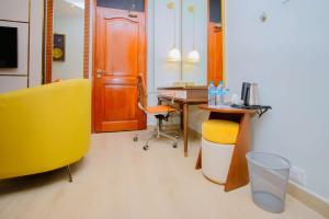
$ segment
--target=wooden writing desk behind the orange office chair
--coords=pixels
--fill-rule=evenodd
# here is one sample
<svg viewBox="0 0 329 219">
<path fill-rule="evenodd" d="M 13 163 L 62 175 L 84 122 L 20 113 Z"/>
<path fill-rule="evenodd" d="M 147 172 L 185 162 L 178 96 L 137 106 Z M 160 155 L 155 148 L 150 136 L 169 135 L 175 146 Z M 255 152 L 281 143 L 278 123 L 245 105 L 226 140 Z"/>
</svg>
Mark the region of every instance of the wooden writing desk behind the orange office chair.
<svg viewBox="0 0 329 219">
<path fill-rule="evenodd" d="M 158 89 L 158 104 L 162 101 L 172 101 L 180 105 L 181 128 L 184 135 L 184 157 L 189 154 L 189 106 L 208 102 L 207 87 L 170 87 Z"/>
</svg>

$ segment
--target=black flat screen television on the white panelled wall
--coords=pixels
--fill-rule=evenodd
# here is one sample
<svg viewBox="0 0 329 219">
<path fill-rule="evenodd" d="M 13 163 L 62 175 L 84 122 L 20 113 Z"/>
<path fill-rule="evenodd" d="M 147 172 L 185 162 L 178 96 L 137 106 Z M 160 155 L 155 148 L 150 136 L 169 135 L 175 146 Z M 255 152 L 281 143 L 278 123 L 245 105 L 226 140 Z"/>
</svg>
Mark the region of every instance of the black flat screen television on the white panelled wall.
<svg viewBox="0 0 329 219">
<path fill-rule="evenodd" d="M 18 27 L 0 26 L 0 68 L 18 68 Z"/>
</svg>

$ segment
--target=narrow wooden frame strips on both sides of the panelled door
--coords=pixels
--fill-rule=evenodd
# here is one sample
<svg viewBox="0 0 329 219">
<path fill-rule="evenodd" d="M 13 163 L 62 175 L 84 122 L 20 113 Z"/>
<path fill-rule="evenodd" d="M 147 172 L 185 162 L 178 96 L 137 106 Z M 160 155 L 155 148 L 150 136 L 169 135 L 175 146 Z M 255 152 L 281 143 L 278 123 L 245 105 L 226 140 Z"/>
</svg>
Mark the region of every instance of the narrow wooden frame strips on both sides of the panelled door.
<svg viewBox="0 0 329 219">
<path fill-rule="evenodd" d="M 92 10 L 92 72 L 91 72 L 91 80 L 92 80 L 92 107 L 91 107 L 91 131 L 95 132 L 95 85 L 94 85 L 94 79 L 97 74 L 97 68 L 95 68 L 95 47 L 97 47 L 97 0 L 88 0 L 91 1 L 91 10 Z M 144 0 L 144 13 L 145 13 L 145 80 L 147 81 L 147 49 L 148 49 L 148 0 Z M 146 83 L 147 87 L 147 83 Z M 147 119 L 145 119 L 145 123 L 147 123 Z"/>
</svg>

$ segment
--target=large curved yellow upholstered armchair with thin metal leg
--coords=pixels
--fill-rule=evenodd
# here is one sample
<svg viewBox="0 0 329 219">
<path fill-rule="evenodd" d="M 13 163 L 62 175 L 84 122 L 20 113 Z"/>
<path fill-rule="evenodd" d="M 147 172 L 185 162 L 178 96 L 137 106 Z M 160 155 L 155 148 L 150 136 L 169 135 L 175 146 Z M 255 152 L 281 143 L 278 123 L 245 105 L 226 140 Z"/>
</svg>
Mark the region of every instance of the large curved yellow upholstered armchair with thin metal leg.
<svg viewBox="0 0 329 219">
<path fill-rule="evenodd" d="M 0 180 L 69 166 L 87 153 L 90 135 L 89 80 L 0 94 Z"/>
</svg>

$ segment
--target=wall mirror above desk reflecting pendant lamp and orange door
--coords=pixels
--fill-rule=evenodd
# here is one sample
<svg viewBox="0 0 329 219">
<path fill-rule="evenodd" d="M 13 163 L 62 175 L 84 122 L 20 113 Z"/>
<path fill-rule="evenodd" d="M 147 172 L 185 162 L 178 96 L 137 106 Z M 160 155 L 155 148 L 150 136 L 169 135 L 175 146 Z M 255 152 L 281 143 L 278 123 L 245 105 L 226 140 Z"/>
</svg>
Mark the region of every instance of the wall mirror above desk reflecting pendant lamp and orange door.
<svg viewBox="0 0 329 219">
<path fill-rule="evenodd" d="M 182 79 L 207 84 L 223 81 L 222 0 L 182 1 Z"/>
</svg>

